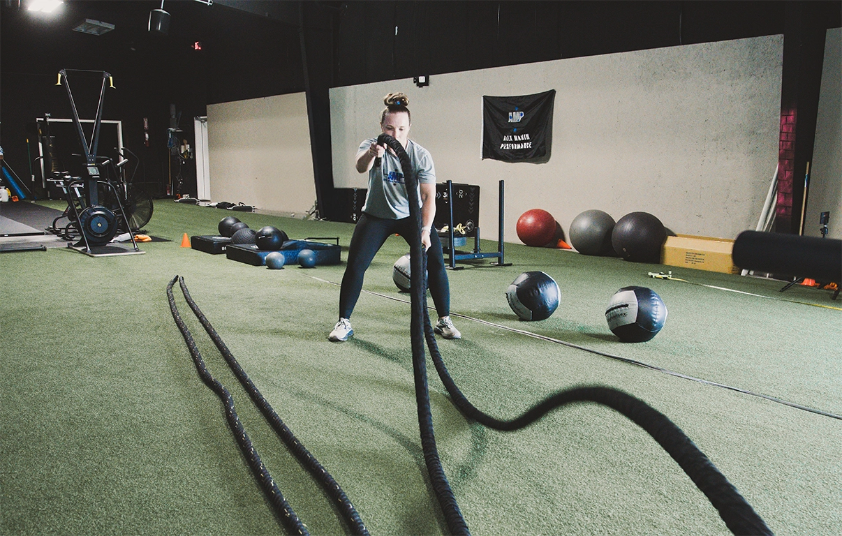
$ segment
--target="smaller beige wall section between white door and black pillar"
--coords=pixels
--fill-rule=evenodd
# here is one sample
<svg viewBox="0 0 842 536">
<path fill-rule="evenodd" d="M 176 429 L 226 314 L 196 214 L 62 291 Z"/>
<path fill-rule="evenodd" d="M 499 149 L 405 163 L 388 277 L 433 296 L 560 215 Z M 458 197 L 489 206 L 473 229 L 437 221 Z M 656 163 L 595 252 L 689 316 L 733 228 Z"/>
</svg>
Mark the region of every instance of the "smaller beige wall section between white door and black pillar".
<svg viewBox="0 0 842 536">
<path fill-rule="evenodd" d="M 304 93 L 209 104 L 210 198 L 303 213 L 316 201 Z"/>
</svg>

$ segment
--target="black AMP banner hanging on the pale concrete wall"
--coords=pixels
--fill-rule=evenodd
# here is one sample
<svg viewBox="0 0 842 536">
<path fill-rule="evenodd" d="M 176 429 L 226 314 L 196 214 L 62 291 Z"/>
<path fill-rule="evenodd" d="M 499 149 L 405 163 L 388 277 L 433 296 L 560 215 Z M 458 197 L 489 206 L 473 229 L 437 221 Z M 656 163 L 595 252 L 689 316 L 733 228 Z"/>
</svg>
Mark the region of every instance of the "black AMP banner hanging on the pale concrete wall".
<svg viewBox="0 0 842 536">
<path fill-rule="evenodd" d="M 482 157 L 507 162 L 544 159 L 556 90 L 520 97 L 482 97 Z"/>
</svg>

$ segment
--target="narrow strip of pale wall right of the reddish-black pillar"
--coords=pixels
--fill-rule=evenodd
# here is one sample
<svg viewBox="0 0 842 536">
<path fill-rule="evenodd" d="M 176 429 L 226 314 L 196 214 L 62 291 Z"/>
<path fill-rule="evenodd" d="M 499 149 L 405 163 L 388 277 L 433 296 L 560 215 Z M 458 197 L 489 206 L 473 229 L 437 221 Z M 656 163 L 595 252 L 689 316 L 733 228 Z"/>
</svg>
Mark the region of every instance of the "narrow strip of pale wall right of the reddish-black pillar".
<svg viewBox="0 0 842 536">
<path fill-rule="evenodd" d="M 818 98 L 816 145 L 810 166 L 804 234 L 822 236 L 818 215 L 830 211 L 828 236 L 842 238 L 842 29 L 824 41 L 822 89 Z"/>
</svg>

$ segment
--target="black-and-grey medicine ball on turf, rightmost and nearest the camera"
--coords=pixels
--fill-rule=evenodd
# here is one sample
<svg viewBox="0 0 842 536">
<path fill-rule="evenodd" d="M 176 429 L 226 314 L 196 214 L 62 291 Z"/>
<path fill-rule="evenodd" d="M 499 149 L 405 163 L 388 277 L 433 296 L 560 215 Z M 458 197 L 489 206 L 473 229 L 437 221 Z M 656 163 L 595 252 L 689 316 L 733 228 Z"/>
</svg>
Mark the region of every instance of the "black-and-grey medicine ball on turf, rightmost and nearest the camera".
<svg viewBox="0 0 842 536">
<path fill-rule="evenodd" d="M 621 341 L 645 342 L 661 331 L 667 320 L 667 306 L 653 289 L 623 287 L 611 296 L 605 320 Z"/>
</svg>

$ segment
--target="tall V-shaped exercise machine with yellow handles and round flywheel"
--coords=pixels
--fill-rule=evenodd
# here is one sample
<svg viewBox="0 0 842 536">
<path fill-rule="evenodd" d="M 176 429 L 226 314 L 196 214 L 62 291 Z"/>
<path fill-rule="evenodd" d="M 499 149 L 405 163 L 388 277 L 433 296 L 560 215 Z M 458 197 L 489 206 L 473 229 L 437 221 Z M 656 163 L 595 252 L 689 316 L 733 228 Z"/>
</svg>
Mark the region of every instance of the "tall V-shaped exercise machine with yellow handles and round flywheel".
<svg viewBox="0 0 842 536">
<path fill-rule="evenodd" d="M 73 93 L 70 90 L 70 82 L 68 81 L 68 72 L 98 72 L 102 74 L 103 84 L 99 91 L 99 104 L 97 105 L 96 118 L 93 120 L 93 132 L 91 133 L 91 141 L 88 144 L 88 139 L 82 129 L 82 122 L 79 120 L 79 114 L 76 109 L 76 103 L 73 100 Z M 76 125 L 77 134 L 79 135 L 79 142 L 82 146 L 83 157 L 85 158 L 84 174 L 85 177 L 72 177 L 69 173 L 56 173 L 53 178 L 48 179 L 56 186 L 60 187 L 67 196 L 67 210 L 65 214 L 69 220 L 69 224 L 65 230 L 65 236 L 72 236 L 70 230 L 77 231 L 79 241 L 76 244 L 68 244 L 67 247 L 83 252 L 91 257 L 104 257 L 113 255 L 137 255 L 142 254 L 135 236 L 131 231 L 135 231 L 130 221 L 128 214 L 132 209 L 131 205 L 126 204 L 127 197 L 125 188 L 118 188 L 114 182 L 110 180 L 103 180 L 102 170 L 106 170 L 107 166 L 115 167 L 120 172 L 122 165 L 125 162 L 114 164 L 109 158 L 97 156 L 97 147 L 99 146 L 99 127 L 102 124 L 103 101 L 105 99 L 105 88 L 114 88 L 114 78 L 104 71 L 80 71 L 76 69 L 62 69 L 58 72 L 58 82 L 56 86 L 64 86 L 67 90 L 67 97 L 70 98 L 70 108 L 73 115 L 73 125 Z M 107 174 L 106 174 L 107 178 Z M 100 189 L 102 192 L 100 192 Z M 100 193 L 102 193 L 102 201 L 100 200 Z M 104 200 L 107 199 L 106 206 Z M 149 215 L 152 215 L 151 204 L 148 210 Z M 147 221 L 144 222 L 145 225 Z M 136 227 L 135 222 L 135 226 Z M 54 222 L 53 227 L 56 227 Z M 106 247 L 112 241 L 118 231 L 128 231 L 131 237 L 131 245 L 133 251 L 127 250 L 124 247 Z"/>
</svg>

